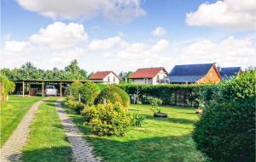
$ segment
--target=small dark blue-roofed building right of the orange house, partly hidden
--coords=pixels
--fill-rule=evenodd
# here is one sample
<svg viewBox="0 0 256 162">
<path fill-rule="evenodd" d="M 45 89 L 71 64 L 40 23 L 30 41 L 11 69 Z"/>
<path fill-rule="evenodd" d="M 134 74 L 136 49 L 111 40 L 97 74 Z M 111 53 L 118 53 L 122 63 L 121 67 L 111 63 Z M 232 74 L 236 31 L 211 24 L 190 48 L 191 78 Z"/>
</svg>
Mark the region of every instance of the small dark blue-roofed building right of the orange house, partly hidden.
<svg viewBox="0 0 256 162">
<path fill-rule="evenodd" d="M 228 68 L 219 68 L 219 74 L 222 77 L 223 81 L 230 81 L 231 77 L 236 77 L 241 74 L 241 67 L 228 67 Z"/>
</svg>

